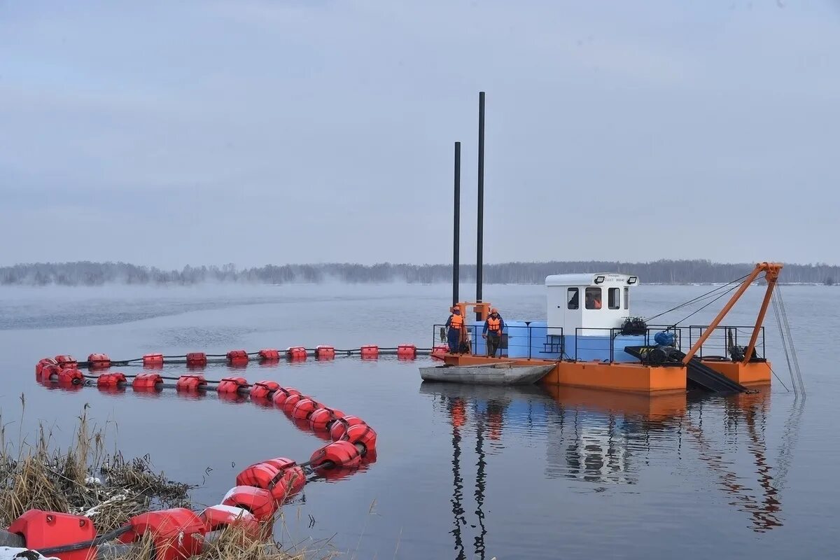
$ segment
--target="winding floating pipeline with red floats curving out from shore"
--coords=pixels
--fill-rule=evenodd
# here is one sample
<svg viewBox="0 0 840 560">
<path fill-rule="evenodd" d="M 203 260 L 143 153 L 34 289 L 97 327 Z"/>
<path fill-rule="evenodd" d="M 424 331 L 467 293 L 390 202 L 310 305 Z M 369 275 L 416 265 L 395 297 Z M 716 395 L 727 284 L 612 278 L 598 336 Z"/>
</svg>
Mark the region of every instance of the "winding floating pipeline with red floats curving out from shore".
<svg viewBox="0 0 840 560">
<path fill-rule="evenodd" d="M 277 351 L 262 350 L 260 355 L 274 356 L 274 352 Z M 154 356 L 150 362 L 155 364 L 171 358 L 149 355 Z M 242 360 L 250 355 L 244 350 L 232 351 L 225 359 Z M 113 393 L 130 386 L 135 392 L 174 389 L 198 396 L 215 392 L 222 400 L 250 399 L 261 406 L 280 408 L 296 427 L 308 429 L 328 443 L 318 447 L 305 462 L 278 457 L 244 468 L 221 503 L 201 513 L 185 508 L 150 511 L 132 517 L 116 531 L 97 536 L 96 527 L 86 516 L 29 510 L 13 521 L 8 530 L 0 529 L 0 546 L 26 547 L 61 560 L 105 560 L 129 552 L 129 547 L 148 535 L 155 545 L 155 560 L 175 560 L 201 553 L 228 526 L 238 527 L 247 536 L 267 540 L 276 511 L 306 484 L 318 479 L 343 479 L 376 460 L 376 432 L 365 421 L 325 406 L 297 389 L 282 387 L 276 381 L 249 383 L 243 377 L 211 380 L 200 374 L 179 377 L 114 371 L 83 374 L 79 367 L 102 369 L 106 362 L 109 366 L 118 364 L 105 354 L 91 354 L 91 358 L 96 359 L 77 362 L 69 355 L 42 359 L 35 367 L 36 377 L 43 385 L 58 385 L 65 390 L 95 386 L 102 392 Z"/>
</svg>

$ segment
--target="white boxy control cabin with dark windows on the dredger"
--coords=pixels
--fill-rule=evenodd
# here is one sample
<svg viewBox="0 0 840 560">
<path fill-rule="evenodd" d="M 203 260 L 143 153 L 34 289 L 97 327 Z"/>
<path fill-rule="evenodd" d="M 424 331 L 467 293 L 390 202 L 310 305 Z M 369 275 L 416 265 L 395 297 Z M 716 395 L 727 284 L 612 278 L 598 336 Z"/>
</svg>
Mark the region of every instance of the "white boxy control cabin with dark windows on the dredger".
<svg viewBox="0 0 840 560">
<path fill-rule="evenodd" d="M 630 317 L 630 288 L 635 285 L 637 276 L 615 273 L 546 276 L 549 335 L 608 335 L 601 329 L 621 327 Z"/>
</svg>

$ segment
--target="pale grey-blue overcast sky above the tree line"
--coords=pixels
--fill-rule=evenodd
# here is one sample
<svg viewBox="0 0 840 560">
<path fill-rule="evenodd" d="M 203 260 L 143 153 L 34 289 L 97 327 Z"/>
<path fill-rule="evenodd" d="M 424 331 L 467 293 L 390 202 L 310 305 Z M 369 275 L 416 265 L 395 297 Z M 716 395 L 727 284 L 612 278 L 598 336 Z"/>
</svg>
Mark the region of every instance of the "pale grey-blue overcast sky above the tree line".
<svg viewBox="0 0 840 560">
<path fill-rule="evenodd" d="M 840 263 L 837 0 L 0 0 L 0 264 Z"/>
</svg>

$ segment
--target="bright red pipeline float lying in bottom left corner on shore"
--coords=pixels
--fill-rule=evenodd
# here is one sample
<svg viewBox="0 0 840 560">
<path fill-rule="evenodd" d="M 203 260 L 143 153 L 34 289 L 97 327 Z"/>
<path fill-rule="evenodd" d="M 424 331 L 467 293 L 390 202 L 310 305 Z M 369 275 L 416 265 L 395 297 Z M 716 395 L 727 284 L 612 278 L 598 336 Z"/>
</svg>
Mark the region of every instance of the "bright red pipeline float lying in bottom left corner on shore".
<svg viewBox="0 0 840 560">
<path fill-rule="evenodd" d="M 8 532 L 23 536 L 26 547 L 33 550 L 92 541 L 97 536 L 96 527 L 87 517 L 42 510 L 27 511 L 8 526 Z M 92 547 L 60 555 L 61 560 L 87 560 L 94 556 L 96 549 Z"/>
</svg>

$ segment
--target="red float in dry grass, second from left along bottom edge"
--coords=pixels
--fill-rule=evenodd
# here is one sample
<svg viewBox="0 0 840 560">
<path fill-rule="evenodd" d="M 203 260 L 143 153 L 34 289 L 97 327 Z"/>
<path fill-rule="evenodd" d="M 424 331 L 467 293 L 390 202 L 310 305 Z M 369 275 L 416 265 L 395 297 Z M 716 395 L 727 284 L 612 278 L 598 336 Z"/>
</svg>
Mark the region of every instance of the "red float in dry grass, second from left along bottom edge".
<svg viewBox="0 0 840 560">
<path fill-rule="evenodd" d="M 185 508 L 150 511 L 132 517 L 126 524 L 131 530 L 119 537 L 130 544 L 149 533 L 155 544 L 155 560 L 183 560 L 202 552 L 207 525 Z"/>
</svg>

